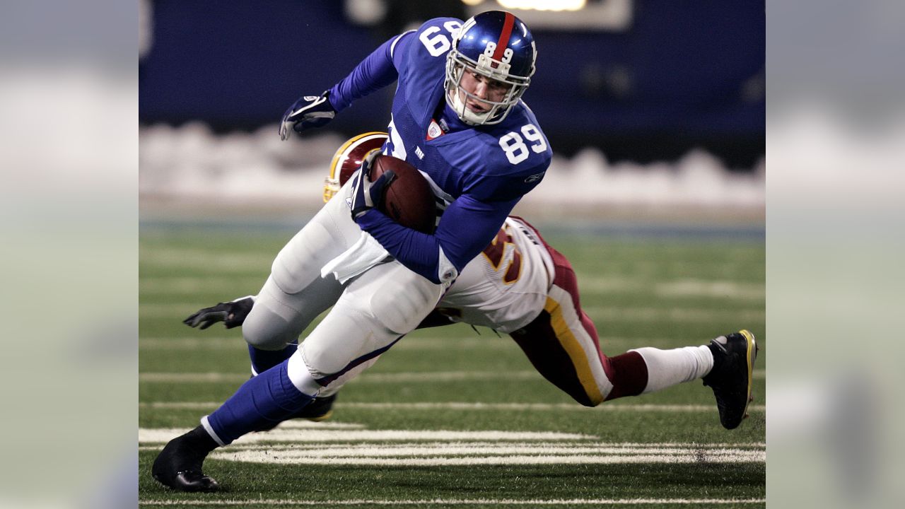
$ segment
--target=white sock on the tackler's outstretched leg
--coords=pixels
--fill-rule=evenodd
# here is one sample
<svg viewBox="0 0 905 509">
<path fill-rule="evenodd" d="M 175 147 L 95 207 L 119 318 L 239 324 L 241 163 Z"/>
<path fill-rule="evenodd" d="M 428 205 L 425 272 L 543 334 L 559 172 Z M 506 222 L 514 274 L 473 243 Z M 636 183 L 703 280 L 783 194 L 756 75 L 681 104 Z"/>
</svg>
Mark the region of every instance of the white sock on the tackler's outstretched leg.
<svg viewBox="0 0 905 509">
<path fill-rule="evenodd" d="M 632 351 L 641 354 L 647 364 L 647 387 L 642 394 L 700 379 L 713 369 L 713 354 L 706 345 L 672 350 L 644 347 Z"/>
</svg>

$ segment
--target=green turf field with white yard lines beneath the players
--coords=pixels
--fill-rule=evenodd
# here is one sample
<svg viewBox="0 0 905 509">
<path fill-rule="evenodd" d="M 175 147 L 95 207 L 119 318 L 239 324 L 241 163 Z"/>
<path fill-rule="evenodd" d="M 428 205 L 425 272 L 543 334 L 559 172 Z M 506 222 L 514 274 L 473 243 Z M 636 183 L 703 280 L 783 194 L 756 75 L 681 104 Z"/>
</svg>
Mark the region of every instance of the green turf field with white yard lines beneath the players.
<svg viewBox="0 0 905 509">
<path fill-rule="evenodd" d="M 751 418 L 720 427 L 700 381 L 584 408 L 542 379 L 508 336 L 455 325 L 399 341 L 339 393 L 329 421 L 284 423 L 214 451 L 205 473 L 224 491 L 175 493 L 150 475 L 157 451 L 249 375 L 238 329 L 198 331 L 182 319 L 257 293 L 293 232 L 145 226 L 141 506 L 764 506 L 762 240 L 542 231 L 575 266 L 608 355 L 753 331 L 761 351 Z"/>
</svg>

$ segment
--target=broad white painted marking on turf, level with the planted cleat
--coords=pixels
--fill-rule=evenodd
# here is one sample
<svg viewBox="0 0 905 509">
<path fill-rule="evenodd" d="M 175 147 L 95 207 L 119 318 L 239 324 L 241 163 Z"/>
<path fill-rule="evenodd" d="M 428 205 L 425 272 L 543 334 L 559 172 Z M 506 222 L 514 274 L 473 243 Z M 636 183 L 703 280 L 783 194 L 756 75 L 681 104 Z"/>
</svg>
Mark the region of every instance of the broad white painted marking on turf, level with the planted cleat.
<svg viewBox="0 0 905 509">
<path fill-rule="evenodd" d="M 553 431 L 341 429 L 306 424 L 238 438 L 211 457 L 283 465 L 458 466 L 636 463 L 764 463 L 766 444 L 606 443 Z M 138 428 L 141 450 L 186 432 Z M 262 443 L 270 445 L 262 445 Z"/>
</svg>

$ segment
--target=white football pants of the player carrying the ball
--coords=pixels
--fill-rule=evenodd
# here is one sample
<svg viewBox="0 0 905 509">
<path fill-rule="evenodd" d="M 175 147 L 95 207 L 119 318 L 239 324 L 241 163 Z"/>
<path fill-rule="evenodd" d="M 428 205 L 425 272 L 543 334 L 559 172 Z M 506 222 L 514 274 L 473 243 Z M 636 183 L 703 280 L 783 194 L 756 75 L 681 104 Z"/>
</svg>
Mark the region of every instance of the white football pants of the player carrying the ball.
<svg viewBox="0 0 905 509">
<path fill-rule="evenodd" d="M 349 214 L 346 186 L 277 255 L 271 275 L 243 323 L 245 341 L 282 350 L 321 312 L 333 306 L 300 343 L 289 362 L 292 383 L 310 396 L 326 396 L 367 369 L 440 300 L 443 288 L 393 260 L 342 285 L 320 268 L 361 235 Z"/>
</svg>

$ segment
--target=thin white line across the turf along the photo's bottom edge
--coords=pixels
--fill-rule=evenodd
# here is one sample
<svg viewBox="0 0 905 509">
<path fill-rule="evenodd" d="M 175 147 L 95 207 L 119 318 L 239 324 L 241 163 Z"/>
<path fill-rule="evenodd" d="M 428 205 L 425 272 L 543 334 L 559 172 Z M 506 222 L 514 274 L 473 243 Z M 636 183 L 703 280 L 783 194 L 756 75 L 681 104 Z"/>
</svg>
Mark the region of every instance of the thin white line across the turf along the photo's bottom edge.
<svg viewBox="0 0 905 509">
<path fill-rule="evenodd" d="M 509 498 L 421 500 L 300 500 L 290 498 L 256 498 L 248 500 L 139 500 L 139 505 L 707 505 L 707 504 L 765 504 L 766 498 L 562 498 L 552 500 L 514 500 Z"/>
</svg>

